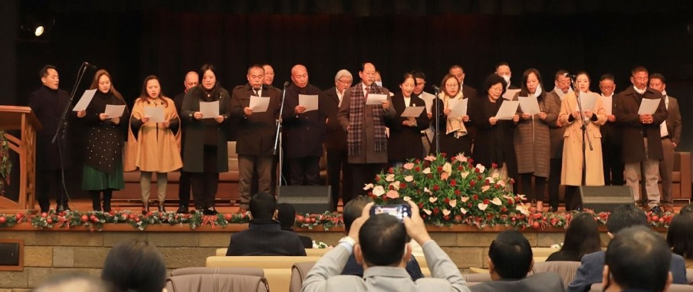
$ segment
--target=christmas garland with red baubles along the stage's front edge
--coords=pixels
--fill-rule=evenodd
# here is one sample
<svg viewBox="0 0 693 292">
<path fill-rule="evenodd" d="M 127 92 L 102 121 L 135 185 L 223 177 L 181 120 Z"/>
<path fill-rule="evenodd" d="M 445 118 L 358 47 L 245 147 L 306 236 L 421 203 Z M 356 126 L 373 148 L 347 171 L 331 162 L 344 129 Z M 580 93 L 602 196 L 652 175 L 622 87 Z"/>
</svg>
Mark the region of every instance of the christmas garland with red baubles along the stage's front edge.
<svg viewBox="0 0 693 292">
<path fill-rule="evenodd" d="M 606 226 L 608 220 L 608 212 L 594 213 L 587 210 L 595 217 L 595 221 L 599 226 Z M 572 220 L 575 212 L 547 212 L 535 213 L 529 216 L 522 214 L 517 215 L 492 215 L 491 217 L 466 217 L 464 220 L 447 223 L 443 226 L 467 225 L 477 228 L 484 226 L 505 226 L 520 230 L 534 229 L 543 230 L 546 228 L 567 228 Z M 668 228 L 674 218 L 674 213 L 666 212 L 662 215 L 656 213 L 648 213 L 647 221 L 651 227 Z M 146 230 L 152 225 L 187 225 L 191 230 L 199 226 L 209 225 L 212 228 L 217 226 L 220 228 L 226 227 L 228 224 L 248 223 L 250 221 L 249 213 L 224 213 L 218 215 L 201 215 L 195 214 L 176 214 L 175 212 L 150 212 L 142 215 L 139 212 L 131 212 L 129 210 L 119 212 L 100 212 L 100 211 L 64 211 L 55 212 L 51 210 L 41 214 L 0 214 L 0 228 L 9 228 L 19 223 L 30 223 L 31 226 L 37 229 L 44 228 L 64 228 L 78 229 L 86 228 L 90 231 L 103 230 L 104 224 L 129 224 L 135 230 Z M 486 222 L 484 224 L 480 222 Z M 322 226 L 324 230 L 329 230 L 335 226 L 344 226 L 342 215 L 335 212 L 325 212 L 323 214 L 299 214 L 296 216 L 296 228 L 313 229 Z"/>
</svg>

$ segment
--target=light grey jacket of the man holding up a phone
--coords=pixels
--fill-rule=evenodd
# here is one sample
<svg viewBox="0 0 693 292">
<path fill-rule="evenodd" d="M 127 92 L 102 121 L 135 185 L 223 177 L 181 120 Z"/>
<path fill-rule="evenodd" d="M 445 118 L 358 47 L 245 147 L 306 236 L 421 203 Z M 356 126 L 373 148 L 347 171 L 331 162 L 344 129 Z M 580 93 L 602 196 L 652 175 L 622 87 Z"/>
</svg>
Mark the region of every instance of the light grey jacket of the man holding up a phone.
<svg viewBox="0 0 693 292">
<path fill-rule="evenodd" d="M 431 271 L 430 278 L 414 282 L 404 268 L 393 266 L 367 268 L 363 278 L 340 275 L 350 255 L 349 250 L 340 245 L 315 263 L 306 275 L 301 291 L 469 291 L 457 266 L 435 241 L 424 243 L 422 248 Z"/>
</svg>

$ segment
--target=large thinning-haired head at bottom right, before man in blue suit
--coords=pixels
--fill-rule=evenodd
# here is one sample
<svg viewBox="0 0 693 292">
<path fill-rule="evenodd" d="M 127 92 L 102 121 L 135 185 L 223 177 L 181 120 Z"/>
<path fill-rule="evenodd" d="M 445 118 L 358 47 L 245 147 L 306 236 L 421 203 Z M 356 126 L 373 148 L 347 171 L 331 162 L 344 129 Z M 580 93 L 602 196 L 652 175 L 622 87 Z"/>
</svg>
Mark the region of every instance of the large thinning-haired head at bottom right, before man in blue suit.
<svg viewBox="0 0 693 292">
<path fill-rule="evenodd" d="M 667 291 L 670 254 L 664 239 L 645 226 L 621 230 L 604 255 L 604 291 Z"/>
</svg>

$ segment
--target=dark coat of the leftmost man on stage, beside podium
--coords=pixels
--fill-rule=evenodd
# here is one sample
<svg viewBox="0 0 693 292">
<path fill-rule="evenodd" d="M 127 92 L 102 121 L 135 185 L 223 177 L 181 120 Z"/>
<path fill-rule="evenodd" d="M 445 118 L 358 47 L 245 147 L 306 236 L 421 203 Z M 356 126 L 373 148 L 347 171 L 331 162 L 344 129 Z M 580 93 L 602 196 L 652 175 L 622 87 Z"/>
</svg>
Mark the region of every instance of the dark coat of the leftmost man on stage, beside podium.
<svg viewBox="0 0 693 292">
<path fill-rule="evenodd" d="M 53 140 L 55 131 L 58 130 L 58 125 L 60 125 L 62 110 L 67 106 L 69 99 L 70 97 L 67 91 L 61 89 L 53 90 L 46 86 L 41 86 L 40 89 L 37 89 L 29 95 L 28 106 L 43 126 L 36 131 L 36 167 L 38 170 L 61 169 L 60 152 L 58 151 L 57 143 L 60 143 L 60 138 L 64 137 L 58 136 L 58 140 L 55 144 L 51 143 L 51 141 Z M 66 128 L 62 129 L 62 131 L 65 130 Z M 65 168 L 68 168 L 67 163 L 71 161 L 69 156 L 65 153 L 67 150 L 69 150 L 68 147 L 62 148 L 64 157 L 63 162 L 66 163 Z"/>
</svg>

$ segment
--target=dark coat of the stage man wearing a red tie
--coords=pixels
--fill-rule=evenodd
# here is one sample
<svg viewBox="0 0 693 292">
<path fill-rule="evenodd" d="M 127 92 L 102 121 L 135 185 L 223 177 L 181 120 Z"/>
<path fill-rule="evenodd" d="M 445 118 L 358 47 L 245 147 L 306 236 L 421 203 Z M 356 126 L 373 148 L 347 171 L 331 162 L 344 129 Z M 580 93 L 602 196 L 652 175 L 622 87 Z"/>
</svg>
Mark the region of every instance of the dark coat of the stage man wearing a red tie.
<svg viewBox="0 0 693 292">
<path fill-rule="evenodd" d="M 250 106 L 250 95 L 254 94 L 249 84 L 236 86 L 231 93 L 231 116 L 238 120 L 236 153 L 255 156 L 273 155 L 281 91 L 263 86 L 261 98 L 270 98 L 267 111 L 245 117 L 243 109 Z"/>
</svg>

